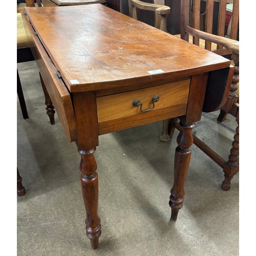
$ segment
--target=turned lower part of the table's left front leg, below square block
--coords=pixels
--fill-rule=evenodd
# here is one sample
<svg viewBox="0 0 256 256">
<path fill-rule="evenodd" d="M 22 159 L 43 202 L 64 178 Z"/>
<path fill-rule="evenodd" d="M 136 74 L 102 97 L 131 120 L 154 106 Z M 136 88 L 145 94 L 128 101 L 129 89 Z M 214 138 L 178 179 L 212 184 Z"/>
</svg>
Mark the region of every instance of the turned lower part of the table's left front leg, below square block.
<svg viewBox="0 0 256 256">
<path fill-rule="evenodd" d="M 96 148 L 89 151 L 79 151 L 81 154 L 80 172 L 84 206 L 86 207 L 86 234 L 90 238 L 93 249 L 99 246 L 101 234 L 100 218 L 98 216 L 98 174 L 94 158 Z"/>
</svg>

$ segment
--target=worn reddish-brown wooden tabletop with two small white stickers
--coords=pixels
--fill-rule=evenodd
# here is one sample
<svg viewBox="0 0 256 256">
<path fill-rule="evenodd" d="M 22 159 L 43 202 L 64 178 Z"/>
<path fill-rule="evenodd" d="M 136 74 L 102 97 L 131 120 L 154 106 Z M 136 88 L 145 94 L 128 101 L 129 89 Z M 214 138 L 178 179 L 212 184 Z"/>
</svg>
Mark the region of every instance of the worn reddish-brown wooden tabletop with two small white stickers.
<svg viewBox="0 0 256 256">
<path fill-rule="evenodd" d="M 25 10 L 71 92 L 129 87 L 230 65 L 101 4 Z"/>
</svg>

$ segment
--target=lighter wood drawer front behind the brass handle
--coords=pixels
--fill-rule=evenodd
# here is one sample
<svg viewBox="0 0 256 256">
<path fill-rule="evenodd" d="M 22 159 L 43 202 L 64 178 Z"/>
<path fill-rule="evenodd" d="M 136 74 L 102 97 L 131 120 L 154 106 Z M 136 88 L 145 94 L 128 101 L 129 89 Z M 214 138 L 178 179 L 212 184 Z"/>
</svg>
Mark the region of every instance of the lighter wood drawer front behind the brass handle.
<svg viewBox="0 0 256 256">
<path fill-rule="evenodd" d="M 142 111 L 152 109 L 152 98 L 159 96 L 152 112 L 170 106 L 186 103 L 188 100 L 190 79 L 173 83 L 162 84 L 151 88 L 131 92 L 102 96 L 97 98 L 98 122 L 106 122 L 133 115 L 144 114 L 140 105 L 133 106 L 133 101 L 139 99 Z"/>
</svg>

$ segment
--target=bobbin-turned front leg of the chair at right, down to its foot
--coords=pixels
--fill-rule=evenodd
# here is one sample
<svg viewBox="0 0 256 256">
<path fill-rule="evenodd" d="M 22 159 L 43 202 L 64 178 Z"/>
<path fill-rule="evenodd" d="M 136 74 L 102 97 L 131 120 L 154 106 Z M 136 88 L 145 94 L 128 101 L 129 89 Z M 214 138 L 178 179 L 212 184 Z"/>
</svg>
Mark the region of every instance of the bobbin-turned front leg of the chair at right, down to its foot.
<svg viewBox="0 0 256 256">
<path fill-rule="evenodd" d="M 236 129 L 236 134 L 234 135 L 234 141 L 232 142 L 230 155 L 228 156 L 229 160 L 223 168 L 225 179 L 221 184 L 221 188 L 226 191 L 230 189 L 231 179 L 239 170 L 239 113 L 237 114 L 237 122 L 238 126 Z"/>
</svg>

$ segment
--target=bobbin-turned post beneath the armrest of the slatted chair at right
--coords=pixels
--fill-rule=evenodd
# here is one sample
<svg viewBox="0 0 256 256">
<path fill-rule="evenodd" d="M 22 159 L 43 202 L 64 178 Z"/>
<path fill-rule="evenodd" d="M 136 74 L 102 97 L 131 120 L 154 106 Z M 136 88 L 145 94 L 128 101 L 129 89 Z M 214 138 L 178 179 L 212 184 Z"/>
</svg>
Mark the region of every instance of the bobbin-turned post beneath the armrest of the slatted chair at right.
<svg viewBox="0 0 256 256">
<path fill-rule="evenodd" d="M 232 78 L 232 83 L 228 95 L 228 99 L 221 108 L 220 114 L 217 118 L 219 122 L 223 122 L 227 118 L 227 114 L 231 113 L 232 106 L 237 102 L 237 90 L 238 90 L 238 82 L 239 82 L 239 55 L 232 54 L 232 59 L 234 61 L 234 74 Z"/>
</svg>

